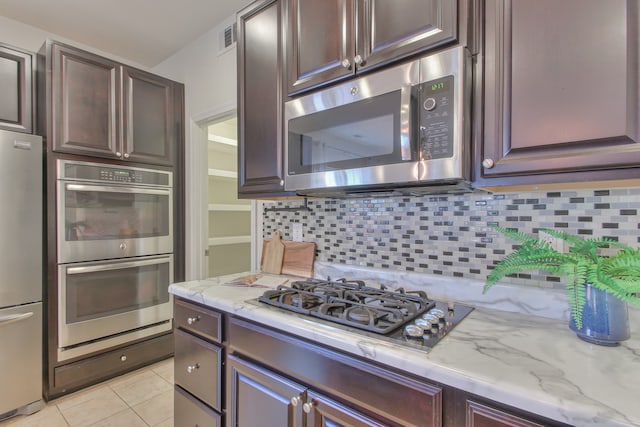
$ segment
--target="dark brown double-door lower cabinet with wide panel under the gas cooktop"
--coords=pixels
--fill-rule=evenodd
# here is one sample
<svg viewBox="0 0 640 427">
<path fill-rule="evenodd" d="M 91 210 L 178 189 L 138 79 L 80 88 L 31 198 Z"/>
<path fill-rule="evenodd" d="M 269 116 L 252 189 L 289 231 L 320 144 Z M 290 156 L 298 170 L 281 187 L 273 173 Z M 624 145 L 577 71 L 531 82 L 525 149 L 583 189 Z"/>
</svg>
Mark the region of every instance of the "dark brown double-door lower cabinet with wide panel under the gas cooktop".
<svg viewBox="0 0 640 427">
<path fill-rule="evenodd" d="M 228 426 L 442 425 L 436 385 L 243 319 L 228 325 Z"/>
</svg>

